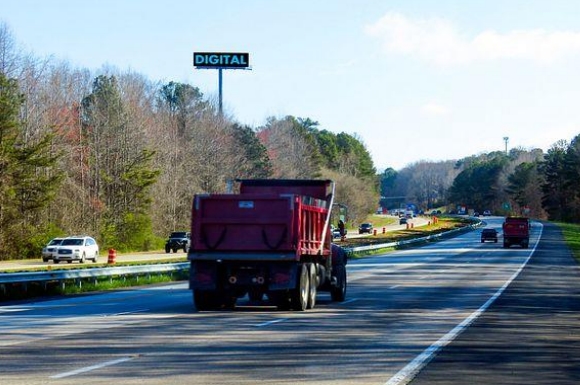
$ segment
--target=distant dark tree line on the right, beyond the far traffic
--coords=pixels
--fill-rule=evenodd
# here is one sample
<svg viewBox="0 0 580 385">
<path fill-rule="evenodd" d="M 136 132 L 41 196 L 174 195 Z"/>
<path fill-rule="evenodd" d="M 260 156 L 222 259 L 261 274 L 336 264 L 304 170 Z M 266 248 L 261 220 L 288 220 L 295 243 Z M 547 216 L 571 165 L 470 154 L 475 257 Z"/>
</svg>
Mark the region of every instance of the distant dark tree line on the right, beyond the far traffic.
<svg viewBox="0 0 580 385">
<path fill-rule="evenodd" d="M 380 190 L 385 207 L 414 202 L 425 210 L 467 207 L 580 223 L 580 135 L 558 141 L 546 153 L 514 148 L 387 169 Z"/>
</svg>

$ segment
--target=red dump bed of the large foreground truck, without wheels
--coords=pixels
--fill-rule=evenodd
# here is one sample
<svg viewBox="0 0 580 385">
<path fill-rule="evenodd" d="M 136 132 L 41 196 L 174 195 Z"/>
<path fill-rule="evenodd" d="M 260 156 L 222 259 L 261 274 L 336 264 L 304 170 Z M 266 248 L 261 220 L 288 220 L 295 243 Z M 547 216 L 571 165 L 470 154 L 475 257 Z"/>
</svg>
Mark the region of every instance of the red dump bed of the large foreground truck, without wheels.
<svg viewBox="0 0 580 385">
<path fill-rule="evenodd" d="M 195 197 L 190 259 L 297 260 L 330 254 L 330 203 L 320 199 L 320 183 L 252 182 L 242 184 L 240 194 Z M 297 194 L 304 191 L 318 197 Z"/>
</svg>

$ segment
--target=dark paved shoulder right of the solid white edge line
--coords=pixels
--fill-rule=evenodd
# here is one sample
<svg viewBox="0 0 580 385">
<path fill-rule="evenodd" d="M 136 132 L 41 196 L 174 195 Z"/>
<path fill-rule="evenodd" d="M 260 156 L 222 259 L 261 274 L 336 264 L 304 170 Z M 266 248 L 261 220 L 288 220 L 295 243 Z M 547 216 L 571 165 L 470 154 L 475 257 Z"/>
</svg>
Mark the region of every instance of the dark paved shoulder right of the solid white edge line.
<svg viewBox="0 0 580 385">
<path fill-rule="evenodd" d="M 412 385 L 580 384 L 580 267 L 547 224 L 526 268 Z"/>
</svg>

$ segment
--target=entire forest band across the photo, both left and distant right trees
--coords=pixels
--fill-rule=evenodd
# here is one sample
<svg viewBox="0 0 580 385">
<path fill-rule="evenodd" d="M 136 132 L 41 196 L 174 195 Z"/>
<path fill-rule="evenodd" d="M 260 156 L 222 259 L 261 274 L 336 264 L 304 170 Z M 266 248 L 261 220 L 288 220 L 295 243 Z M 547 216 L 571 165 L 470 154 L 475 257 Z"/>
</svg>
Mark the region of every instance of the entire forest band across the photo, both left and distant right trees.
<svg viewBox="0 0 580 385">
<path fill-rule="evenodd" d="M 580 135 L 546 153 L 379 172 L 356 134 L 298 116 L 250 127 L 215 104 L 194 85 L 38 58 L 0 23 L 0 260 L 38 258 L 64 235 L 90 235 L 102 250 L 161 249 L 189 228 L 194 194 L 238 178 L 332 179 L 351 225 L 408 203 L 580 222 Z"/>
</svg>

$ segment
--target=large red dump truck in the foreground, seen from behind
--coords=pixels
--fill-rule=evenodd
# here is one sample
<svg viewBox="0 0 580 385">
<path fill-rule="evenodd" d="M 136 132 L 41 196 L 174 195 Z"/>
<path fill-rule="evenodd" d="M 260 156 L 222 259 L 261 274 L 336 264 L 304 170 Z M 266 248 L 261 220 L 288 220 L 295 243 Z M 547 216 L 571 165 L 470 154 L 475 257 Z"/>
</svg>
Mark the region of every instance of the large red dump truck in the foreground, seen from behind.
<svg viewBox="0 0 580 385">
<path fill-rule="evenodd" d="M 303 311 L 319 290 L 344 301 L 347 256 L 330 233 L 334 182 L 236 182 L 237 194 L 194 197 L 188 260 L 196 308 L 233 308 L 248 295 Z"/>
</svg>

